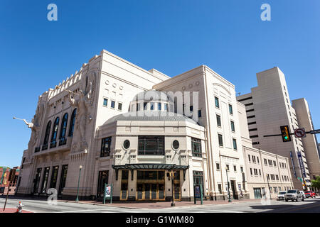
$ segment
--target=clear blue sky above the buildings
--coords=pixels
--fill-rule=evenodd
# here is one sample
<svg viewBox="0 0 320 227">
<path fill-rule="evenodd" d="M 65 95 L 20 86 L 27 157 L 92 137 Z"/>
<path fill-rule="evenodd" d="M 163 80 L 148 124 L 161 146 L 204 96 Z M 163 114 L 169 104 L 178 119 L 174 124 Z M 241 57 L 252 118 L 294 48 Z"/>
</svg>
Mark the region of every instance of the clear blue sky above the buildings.
<svg viewBox="0 0 320 227">
<path fill-rule="evenodd" d="M 272 21 L 260 19 L 264 3 Z M 208 65 L 242 94 L 277 66 L 320 128 L 319 22 L 318 0 L 1 0 L 0 166 L 20 165 L 31 134 L 12 117 L 33 118 L 38 96 L 102 49 L 169 76 Z"/>
</svg>

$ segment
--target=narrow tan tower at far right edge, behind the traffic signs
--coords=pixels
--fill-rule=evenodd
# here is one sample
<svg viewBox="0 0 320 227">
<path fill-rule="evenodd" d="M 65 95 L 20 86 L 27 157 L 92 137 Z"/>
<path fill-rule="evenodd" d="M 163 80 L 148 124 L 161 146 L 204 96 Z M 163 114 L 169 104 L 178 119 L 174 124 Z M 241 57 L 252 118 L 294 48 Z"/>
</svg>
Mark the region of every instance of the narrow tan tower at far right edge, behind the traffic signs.
<svg viewBox="0 0 320 227">
<path fill-rule="evenodd" d="M 296 110 L 299 127 L 304 128 L 306 131 L 316 129 L 312 123 L 309 105 L 306 99 L 292 100 L 292 107 Z M 306 154 L 310 177 L 311 179 L 316 179 L 316 176 L 320 176 L 320 150 L 316 135 L 306 134 L 306 137 L 302 138 L 302 144 L 304 145 L 304 153 Z"/>
</svg>

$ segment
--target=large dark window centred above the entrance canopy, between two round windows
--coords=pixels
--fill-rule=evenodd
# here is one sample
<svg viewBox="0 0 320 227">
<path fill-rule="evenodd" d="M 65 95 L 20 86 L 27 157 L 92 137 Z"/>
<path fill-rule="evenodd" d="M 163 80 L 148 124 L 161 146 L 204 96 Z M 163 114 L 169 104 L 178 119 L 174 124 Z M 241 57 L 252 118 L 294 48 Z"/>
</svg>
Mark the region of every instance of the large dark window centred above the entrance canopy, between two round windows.
<svg viewBox="0 0 320 227">
<path fill-rule="evenodd" d="M 164 135 L 139 135 L 138 155 L 164 155 Z"/>
</svg>

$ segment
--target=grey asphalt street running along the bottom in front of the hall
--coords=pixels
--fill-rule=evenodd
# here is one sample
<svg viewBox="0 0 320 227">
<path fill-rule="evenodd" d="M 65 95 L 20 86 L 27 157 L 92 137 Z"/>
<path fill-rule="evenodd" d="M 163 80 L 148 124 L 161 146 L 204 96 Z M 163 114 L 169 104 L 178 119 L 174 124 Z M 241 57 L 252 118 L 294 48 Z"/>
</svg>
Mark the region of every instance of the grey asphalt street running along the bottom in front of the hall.
<svg viewBox="0 0 320 227">
<path fill-rule="evenodd" d="M 4 207 L 4 201 L 4 198 L 0 198 L 0 209 Z M 8 199 L 6 207 L 16 208 L 18 201 L 22 201 L 23 209 L 36 213 L 320 213 L 320 197 L 298 202 L 272 200 L 267 204 L 261 201 L 235 201 L 230 204 L 178 206 L 165 209 L 129 209 L 64 201 L 58 201 L 57 205 L 48 205 L 47 201 L 37 199 Z"/>
</svg>

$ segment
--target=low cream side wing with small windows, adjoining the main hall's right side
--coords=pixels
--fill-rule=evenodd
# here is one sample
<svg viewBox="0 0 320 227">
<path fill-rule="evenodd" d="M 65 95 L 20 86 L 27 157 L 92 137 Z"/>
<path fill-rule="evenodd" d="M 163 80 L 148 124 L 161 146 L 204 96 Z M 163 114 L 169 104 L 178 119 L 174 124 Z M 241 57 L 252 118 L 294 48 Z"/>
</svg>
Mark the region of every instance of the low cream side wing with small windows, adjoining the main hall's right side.
<svg viewBox="0 0 320 227">
<path fill-rule="evenodd" d="M 289 159 L 253 148 L 245 105 L 238 102 L 242 153 L 245 159 L 247 191 L 252 199 L 277 198 L 280 191 L 293 189 Z"/>
</svg>

